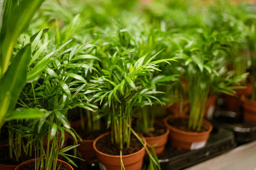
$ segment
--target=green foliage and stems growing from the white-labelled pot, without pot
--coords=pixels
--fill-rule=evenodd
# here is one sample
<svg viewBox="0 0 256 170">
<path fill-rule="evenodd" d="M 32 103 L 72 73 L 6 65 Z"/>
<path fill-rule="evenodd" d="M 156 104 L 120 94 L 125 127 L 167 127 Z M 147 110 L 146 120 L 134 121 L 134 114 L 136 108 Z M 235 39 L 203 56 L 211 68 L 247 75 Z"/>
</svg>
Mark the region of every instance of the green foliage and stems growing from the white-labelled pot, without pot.
<svg viewBox="0 0 256 170">
<path fill-rule="evenodd" d="M 207 98 L 216 92 L 229 95 L 240 86 L 247 73 L 234 76 L 234 71 L 227 71 L 225 56 L 232 41 L 225 32 L 211 33 L 202 29 L 202 33 L 193 38 L 181 38 L 183 48 L 177 55 L 184 59 L 185 77 L 188 83 L 190 114 L 188 128 L 200 131 L 204 118 Z M 180 39 L 180 38 L 178 38 Z"/>
</svg>

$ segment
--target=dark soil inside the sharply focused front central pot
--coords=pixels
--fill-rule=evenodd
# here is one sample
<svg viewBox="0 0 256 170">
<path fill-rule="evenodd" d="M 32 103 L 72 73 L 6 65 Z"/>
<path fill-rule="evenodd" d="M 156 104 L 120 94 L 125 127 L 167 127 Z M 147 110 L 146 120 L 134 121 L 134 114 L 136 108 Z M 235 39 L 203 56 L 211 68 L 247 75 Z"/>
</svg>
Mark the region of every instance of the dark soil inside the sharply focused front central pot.
<svg viewBox="0 0 256 170">
<path fill-rule="evenodd" d="M 100 152 L 107 153 L 109 155 L 120 155 L 120 147 L 111 143 L 110 134 L 99 139 L 99 141 L 96 143 L 96 147 Z M 143 145 L 141 145 L 140 141 L 134 135 L 131 135 L 130 146 L 127 148 L 124 145 L 123 155 L 136 153 L 141 150 L 142 147 Z"/>
</svg>

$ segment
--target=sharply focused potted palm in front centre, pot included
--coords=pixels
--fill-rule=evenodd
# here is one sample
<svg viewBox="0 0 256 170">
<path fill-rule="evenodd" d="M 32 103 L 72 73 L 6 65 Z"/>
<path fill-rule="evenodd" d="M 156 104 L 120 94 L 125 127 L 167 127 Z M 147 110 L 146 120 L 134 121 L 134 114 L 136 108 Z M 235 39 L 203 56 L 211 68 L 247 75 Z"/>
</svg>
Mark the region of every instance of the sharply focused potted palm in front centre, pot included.
<svg viewBox="0 0 256 170">
<path fill-rule="evenodd" d="M 160 62 L 173 60 L 163 59 L 152 61 L 156 55 L 144 55 L 132 62 L 129 56 L 134 55 L 132 50 L 115 52 L 102 60 L 103 66 L 98 67 L 101 76 L 92 80 L 92 90 L 95 91 L 94 100 L 108 103 L 106 110 L 95 119 L 108 116 L 107 127 L 111 132 L 102 134 L 93 143 L 97 158 L 106 169 L 141 169 L 145 150 L 145 141 L 131 128 L 134 117 L 134 106 L 141 101 L 156 97 L 143 87 L 143 77 L 156 68 Z M 107 52 L 106 52 L 107 53 Z M 131 133 L 132 132 L 132 133 Z M 144 139 L 145 140 L 145 139 Z M 144 146 L 144 147 L 143 147 Z M 156 157 L 148 152 L 151 166 L 159 167 Z"/>
</svg>

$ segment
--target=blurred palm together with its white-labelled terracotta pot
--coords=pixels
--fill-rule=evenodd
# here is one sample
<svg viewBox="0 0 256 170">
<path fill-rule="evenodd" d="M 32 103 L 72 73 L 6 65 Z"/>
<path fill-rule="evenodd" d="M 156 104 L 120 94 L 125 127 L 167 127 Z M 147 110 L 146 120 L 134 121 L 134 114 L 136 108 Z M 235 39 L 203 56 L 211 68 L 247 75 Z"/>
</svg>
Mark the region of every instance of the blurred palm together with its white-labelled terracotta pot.
<svg viewBox="0 0 256 170">
<path fill-rule="evenodd" d="M 168 117 L 164 123 L 170 129 L 170 144 L 177 148 L 195 150 L 205 146 L 212 131 L 212 125 L 204 120 L 207 99 L 212 94 L 222 92 L 233 94 L 231 87 L 246 78 L 246 75 L 234 76 L 227 71 L 225 47 L 228 37 L 225 34 L 211 33 L 201 29 L 203 34 L 194 34 L 183 38 L 184 45 L 177 53 L 184 59 L 184 77 L 188 81 L 189 117 Z"/>
</svg>

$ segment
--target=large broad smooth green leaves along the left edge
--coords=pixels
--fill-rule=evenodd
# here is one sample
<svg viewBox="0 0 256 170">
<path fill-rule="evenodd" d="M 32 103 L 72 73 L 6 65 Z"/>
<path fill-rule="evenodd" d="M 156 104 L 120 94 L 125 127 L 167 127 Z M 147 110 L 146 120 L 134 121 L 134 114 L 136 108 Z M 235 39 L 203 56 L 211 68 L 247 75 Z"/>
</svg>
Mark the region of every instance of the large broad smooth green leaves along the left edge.
<svg viewBox="0 0 256 170">
<path fill-rule="evenodd" d="M 37 118 L 44 115 L 42 111 L 33 108 L 17 108 L 15 110 L 19 94 L 26 84 L 26 78 L 29 76 L 26 69 L 31 53 L 35 52 L 35 49 L 31 48 L 32 45 L 28 43 L 21 48 L 13 50 L 17 45 L 17 39 L 20 34 L 26 29 L 35 11 L 43 2 L 30 0 L 24 0 L 20 3 L 18 1 L 0 2 L 0 129 L 6 121 Z M 20 15 L 17 15 L 17 13 Z M 9 156 L 9 159 L 14 159 L 15 157 L 13 164 L 19 164 L 20 155 L 24 151 L 25 155 L 28 155 L 28 150 L 22 150 L 22 147 L 14 147 L 21 146 L 21 138 L 15 139 L 13 142 L 13 134 L 17 137 L 19 133 L 9 131 L 9 134 L 9 143 L 1 146 L 1 148 L 9 148 L 7 152 L 9 154 L 6 155 L 4 151 L 1 153 L 4 153 L 7 157 Z M 8 160 L 4 160 L 4 163 L 6 162 Z M 1 169 L 14 169 L 15 165 L 4 166 L 0 164 L 0 167 Z"/>
</svg>

